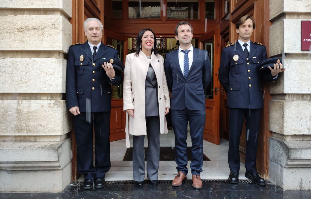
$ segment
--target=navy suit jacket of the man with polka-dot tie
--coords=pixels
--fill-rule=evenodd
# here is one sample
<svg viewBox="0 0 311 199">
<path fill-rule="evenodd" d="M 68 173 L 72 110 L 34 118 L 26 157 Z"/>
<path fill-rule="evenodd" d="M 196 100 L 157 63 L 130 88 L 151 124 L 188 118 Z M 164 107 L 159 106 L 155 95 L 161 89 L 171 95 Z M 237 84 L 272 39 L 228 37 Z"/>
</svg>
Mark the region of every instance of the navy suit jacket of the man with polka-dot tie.
<svg viewBox="0 0 311 199">
<path fill-rule="evenodd" d="M 211 82 L 211 62 L 207 51 L 193 48 L 193 62 L 185 78 L 179 66 L 178 49 L 167 53 L 165 76 L 172 92 L 171 109 L 205 110 L 205 90 Z"/>
</svg>

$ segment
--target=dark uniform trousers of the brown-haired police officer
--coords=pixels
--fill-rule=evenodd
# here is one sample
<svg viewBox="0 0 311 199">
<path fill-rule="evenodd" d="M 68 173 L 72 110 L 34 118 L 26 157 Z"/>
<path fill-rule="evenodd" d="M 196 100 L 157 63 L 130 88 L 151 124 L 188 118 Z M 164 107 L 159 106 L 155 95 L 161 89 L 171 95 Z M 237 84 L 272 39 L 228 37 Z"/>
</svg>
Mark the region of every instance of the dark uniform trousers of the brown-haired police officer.
<svg viewBox="0 0 311 199">
<path fill-rule="evenodd" d="M 229 109 L 229 154 L 228 163 L 231 172 L 240 170 L 240 136 L 244 118 L 246 120 L 246 172 L 253 174 L 256 169 L 258 133 L 262 109 Z"/>
</svg>

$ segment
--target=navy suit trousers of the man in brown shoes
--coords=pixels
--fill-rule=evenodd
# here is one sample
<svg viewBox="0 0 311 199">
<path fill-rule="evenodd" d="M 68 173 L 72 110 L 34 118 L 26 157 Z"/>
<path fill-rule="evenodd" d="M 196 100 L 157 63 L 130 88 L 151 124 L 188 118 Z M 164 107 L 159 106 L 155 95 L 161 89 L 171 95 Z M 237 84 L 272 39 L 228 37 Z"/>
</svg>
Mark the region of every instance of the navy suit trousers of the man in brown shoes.
<svg viewBox="0 0 311 199">
<path fill-rule="evenodd" d="M 172 124 L 175 134 L 175 162 L 176 169 L 185 175 L 188 173 L 187 163 L 187 135 L 188 121 L 192 142 L 191 173 L 200 175 L 203 171 L 203 132 L 205 125 L 205 110 L 171 110 Z"/>
</svg>

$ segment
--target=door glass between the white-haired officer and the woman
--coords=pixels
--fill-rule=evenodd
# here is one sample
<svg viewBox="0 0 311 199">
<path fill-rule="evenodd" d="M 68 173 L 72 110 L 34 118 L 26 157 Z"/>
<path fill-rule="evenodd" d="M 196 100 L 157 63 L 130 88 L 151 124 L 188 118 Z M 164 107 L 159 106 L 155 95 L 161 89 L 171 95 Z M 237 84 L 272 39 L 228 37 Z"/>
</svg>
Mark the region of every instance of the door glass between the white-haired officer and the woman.
<svg viewBox="0 0 311 199">
<path fill-rule="evenodd" d="M 107 44 L 114 46 L 119 53 L 119 59 L 120 61 L 123 61 L 123 41 L 119 41 L 116 39 L 112 39 L 107 37 Z M 112 99 L 120 99 L 123 98 L 123 83 L 121 83 L 119 86 L 112 86 Z"/>
</svg>

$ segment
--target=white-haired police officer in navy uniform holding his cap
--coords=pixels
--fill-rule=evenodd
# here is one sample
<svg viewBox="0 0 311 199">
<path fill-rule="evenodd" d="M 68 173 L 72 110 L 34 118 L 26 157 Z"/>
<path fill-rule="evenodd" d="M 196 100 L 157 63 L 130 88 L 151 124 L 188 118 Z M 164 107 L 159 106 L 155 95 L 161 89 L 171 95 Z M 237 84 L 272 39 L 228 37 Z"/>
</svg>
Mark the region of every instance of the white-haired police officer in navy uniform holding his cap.
<svg viewBox="0 0 311 199">
<path fill-rule="evenodd" d="M 77 167 L 85 179 L 82 186 L 84 189 L 91 189 L 93 181 L 96 188 L 104 187 L 105 173 L 110 168 L 111 85 L 119 85 L 122 77 L 115 75 L 110 63 L 104 63 L 106 58 L 118 58 L 118 51 L 101 42 L 102 23 L 96 18 L 86 19 L 84 33 L 88 41 L 69 47 L 66 96 L 67 107 L 74 115 Z"/>
</svg>

